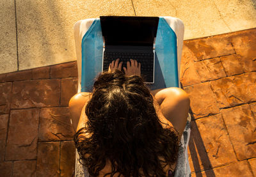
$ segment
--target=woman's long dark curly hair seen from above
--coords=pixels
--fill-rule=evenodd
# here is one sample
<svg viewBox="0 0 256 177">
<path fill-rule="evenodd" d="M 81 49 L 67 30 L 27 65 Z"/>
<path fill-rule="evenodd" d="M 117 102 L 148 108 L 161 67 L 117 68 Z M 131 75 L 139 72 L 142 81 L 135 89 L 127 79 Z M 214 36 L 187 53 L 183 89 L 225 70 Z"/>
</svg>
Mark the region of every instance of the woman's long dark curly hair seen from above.
<svg viewBox="0 0 256 177">
<path fill-rule="evenodd" d="M 112 171 L 104 176 L 166 176 L 163 168 L 176 162 L 177 134 L 161 126 L 141 77 L 102 73 L 85 113 L 88 121 L 74 141 L 90 176 L 99 176 L 107 160 Z"/>
</svg>

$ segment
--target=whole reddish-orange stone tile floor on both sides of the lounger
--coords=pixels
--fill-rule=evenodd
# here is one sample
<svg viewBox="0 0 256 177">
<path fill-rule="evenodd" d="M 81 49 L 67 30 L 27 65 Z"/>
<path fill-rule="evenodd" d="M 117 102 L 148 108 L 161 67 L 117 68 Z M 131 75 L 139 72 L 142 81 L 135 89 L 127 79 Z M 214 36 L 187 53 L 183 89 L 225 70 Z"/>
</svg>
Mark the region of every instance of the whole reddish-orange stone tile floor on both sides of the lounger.
<svg viewBox="0 0 256 177">
<path fill-rule="evenodd" d="M 192 176 L 256 176 L 256 29 L 184 41 Z M 76 62 L 0 75 L 0 176 L 72 176 Z"/>
</svg>

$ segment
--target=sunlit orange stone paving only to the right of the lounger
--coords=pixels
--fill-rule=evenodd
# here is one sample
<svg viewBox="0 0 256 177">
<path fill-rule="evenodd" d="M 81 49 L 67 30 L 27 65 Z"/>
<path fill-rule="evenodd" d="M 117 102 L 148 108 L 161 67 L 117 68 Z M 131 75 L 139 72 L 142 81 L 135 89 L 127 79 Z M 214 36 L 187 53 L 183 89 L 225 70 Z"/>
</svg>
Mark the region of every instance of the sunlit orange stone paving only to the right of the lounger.
<svg viewBox="0 0 256 177">
<path fill-rule="evenodd" d="M 256 175 L 255 40 L 256 29 L 248 29 L 184 42 L 193 176 Z"/>
</svg>

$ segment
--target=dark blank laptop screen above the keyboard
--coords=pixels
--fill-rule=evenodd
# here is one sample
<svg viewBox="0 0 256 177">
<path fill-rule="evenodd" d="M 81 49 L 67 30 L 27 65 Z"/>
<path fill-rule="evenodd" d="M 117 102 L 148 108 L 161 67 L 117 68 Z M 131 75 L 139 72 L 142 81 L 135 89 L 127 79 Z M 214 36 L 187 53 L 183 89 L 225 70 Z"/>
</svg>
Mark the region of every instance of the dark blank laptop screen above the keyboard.
<svg viewBox="0 0 256 177">
<path fill-rule="evenodd" d="M 101 16 L 105 45 L 153 46 L 159 17 Z"/>
</svg>

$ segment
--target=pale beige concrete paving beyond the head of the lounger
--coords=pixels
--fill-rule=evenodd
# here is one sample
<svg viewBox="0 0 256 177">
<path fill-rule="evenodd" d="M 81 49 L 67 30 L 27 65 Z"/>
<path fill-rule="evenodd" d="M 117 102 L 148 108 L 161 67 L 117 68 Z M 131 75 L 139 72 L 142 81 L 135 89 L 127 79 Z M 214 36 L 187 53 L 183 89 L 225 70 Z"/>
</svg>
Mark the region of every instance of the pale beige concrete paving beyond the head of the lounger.
<svg viewBox="0 0 256 177">
<path fill-rule="evenodd" d="M 74 23 L 100 15 L 178 17 L 185 40 L 256 27 L 254 0 L 4 0 L 0 6 L 0 73 L 76 60 Z"/>
</svg>

